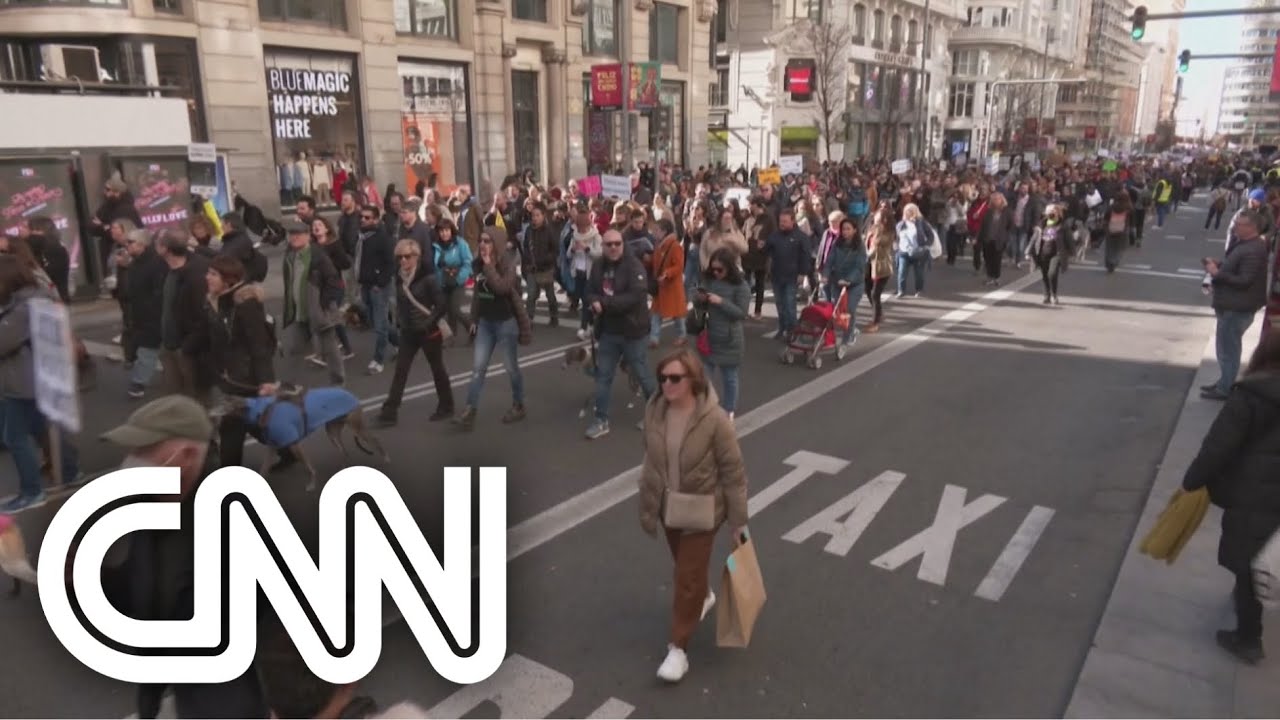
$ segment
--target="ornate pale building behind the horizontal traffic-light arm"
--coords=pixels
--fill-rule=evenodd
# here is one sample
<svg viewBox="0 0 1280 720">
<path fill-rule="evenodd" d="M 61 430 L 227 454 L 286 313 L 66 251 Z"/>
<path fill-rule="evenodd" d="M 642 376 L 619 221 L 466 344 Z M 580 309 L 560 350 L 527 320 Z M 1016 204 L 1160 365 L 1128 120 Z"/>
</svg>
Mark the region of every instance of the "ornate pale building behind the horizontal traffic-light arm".
<svg viewBox="0 0 1280 720">
<path fill-rule="evenodd" d="M 948 156 L 1052 147 L 1057 87 L 1018 81 L 1079 74 L 1089 0 L 974 0 L 950 37 Z M 1012 82 L 1001 82 L 1012 81 Z"/>
</svg>

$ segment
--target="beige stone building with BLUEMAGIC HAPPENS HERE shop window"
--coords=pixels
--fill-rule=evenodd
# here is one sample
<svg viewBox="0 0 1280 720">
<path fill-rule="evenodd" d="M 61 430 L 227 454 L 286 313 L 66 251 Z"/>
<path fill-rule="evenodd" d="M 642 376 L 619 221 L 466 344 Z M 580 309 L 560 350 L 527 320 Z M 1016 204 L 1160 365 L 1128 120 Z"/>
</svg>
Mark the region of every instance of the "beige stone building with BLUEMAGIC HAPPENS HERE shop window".
<svg viewBox="0 0 1280 720">
<path fill-rule="evenodd" d="M 187 101 L 192 138 L 225 151 L 237 190 L 264 208 L 302 195 L 332 204 L 343 172 L 486 197 L 516 172 L 563 182 L 621 160 L 620 118 L 590 111 L 589 77 L 622 51 L 660 64 L 672 118 L 660 138 L 646 118 L 634 123 L 636 159 L 704 163 L 705 136 L 691 128 L 707 122 L 714 10 L 709 0 L 23 1 L 0 4 L 0 81 L 18 92 L 63 78 L 164 86 Z"/>
</svg>

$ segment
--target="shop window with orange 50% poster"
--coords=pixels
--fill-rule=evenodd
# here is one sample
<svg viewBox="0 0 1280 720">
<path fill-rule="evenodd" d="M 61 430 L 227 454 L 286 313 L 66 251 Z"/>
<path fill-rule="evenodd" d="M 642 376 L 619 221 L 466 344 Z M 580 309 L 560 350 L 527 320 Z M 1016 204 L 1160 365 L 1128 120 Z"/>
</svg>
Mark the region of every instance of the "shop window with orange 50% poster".
<svg viewBox="0 0 1280 720">
<path fill-rule="evenodd" d="M 465 65 L 402 60 L 404 192 L 472 184 L 471 114 Z"/>
</svg>

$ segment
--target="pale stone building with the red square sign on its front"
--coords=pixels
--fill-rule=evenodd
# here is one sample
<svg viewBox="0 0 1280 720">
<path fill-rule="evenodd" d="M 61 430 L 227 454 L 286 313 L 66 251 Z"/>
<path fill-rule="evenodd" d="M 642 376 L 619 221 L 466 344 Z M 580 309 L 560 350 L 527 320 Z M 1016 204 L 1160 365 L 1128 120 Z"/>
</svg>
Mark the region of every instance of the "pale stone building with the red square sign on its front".
<svg viewBox="0 0 1280 720">
<path fill-rule="evenodd" d="M 712 155 L 731 167 L 937 156 L 959 0 L 722 0 Z"/>
</svg>

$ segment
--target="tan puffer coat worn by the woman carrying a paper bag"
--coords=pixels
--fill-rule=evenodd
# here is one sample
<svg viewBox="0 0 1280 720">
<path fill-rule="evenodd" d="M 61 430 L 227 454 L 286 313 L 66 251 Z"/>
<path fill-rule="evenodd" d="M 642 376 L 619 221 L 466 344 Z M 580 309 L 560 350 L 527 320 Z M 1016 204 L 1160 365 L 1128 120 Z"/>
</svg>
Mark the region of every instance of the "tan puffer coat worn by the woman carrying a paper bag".
<svg viewBox="0 0 1280 720">
<path fill-rule="evenodd" d="M 662 524 L 667 491 L 667 398 L 659 392 L 645 406 L 644 465 L 640 469 L 640 527 L 650 536 Z M 733 421 L 719 406 L 716 389 L 698 395 L 680 446 L 678 492 L 716 496 L 716 527 L 746 525 L 746 468 Z"/>
</svg>

